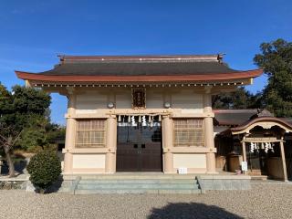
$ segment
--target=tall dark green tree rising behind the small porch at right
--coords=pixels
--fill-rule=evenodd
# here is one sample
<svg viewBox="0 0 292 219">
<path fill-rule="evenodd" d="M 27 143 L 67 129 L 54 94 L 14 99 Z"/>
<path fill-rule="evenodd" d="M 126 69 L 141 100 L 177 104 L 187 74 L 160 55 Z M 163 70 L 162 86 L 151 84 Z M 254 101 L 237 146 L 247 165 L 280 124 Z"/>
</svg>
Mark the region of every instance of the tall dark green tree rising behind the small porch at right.
<svg viewBox="0 0 292 219">
<path fill-rule="evenodd" d="M 268 84 L 263 90 L 266 109 L 277 117 L 292 117 L 292 43 L 276 39 L 260 46 L 254 61 L 263 68 Z"/>
</svg>

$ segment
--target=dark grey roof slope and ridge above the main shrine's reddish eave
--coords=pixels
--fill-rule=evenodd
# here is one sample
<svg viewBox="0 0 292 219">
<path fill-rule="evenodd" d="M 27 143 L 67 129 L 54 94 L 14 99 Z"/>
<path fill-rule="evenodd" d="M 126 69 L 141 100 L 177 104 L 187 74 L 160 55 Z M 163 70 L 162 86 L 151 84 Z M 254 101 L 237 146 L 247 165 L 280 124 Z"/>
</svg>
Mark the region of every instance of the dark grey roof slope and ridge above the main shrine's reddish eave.
<svg viewBox="0 0 292 219">
<path fill-rule="evenodd" d="M 61 57 L 55 68 L 39 72 L 60 76 L 141 76 L 235 73 L 217 56 Z"/>
</svg>

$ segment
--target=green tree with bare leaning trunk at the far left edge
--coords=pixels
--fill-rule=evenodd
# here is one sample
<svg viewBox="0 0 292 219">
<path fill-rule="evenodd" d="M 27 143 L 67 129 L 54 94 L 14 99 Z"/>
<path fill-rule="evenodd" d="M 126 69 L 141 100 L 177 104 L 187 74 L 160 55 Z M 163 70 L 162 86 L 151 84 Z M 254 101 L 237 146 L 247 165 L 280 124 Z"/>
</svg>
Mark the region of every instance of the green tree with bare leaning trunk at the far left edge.
<svg viewBox="0 0 292 219">
<path fill-rule="evenodd" d="M 12 92 L 0 84 L 0 147 L 5 151 L 9 176 L 15 175 L 11 155 L 27 127 L 45 117 L 50 97 L 39 89 L 15 86 Z"/>
</svg>

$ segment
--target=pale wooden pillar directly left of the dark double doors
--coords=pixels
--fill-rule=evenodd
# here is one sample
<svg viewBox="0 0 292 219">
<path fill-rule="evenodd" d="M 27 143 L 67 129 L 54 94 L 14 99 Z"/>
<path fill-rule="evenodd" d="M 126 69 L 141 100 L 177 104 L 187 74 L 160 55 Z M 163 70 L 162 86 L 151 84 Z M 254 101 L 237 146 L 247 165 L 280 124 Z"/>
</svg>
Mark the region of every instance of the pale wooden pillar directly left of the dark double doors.
<svg viewBox="0 0 292 219">
<path fill-rule="evenodd" d="M 110 117 L 107 120 L 107 132 L 106 132 L 106 173 L 116 172 L 116 151 L 117 151 L 117 120 L 115 117 Z"/>
</svg>

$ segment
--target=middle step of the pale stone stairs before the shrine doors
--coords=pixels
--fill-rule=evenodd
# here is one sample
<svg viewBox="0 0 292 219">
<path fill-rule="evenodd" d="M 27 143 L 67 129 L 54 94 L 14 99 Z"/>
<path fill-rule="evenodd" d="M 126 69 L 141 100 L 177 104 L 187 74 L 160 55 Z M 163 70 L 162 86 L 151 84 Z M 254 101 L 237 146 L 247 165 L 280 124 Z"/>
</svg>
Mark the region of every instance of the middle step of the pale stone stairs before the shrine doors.
<svg viewBox="0 0 292 219">
<path fill-rule="evenodd" d="M 78 190 L 95 189 L 198 189 L 195 183 L 97 183 L 78 184 Z"/>
</svg>

